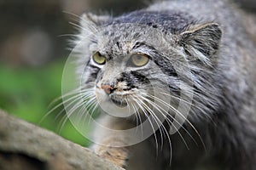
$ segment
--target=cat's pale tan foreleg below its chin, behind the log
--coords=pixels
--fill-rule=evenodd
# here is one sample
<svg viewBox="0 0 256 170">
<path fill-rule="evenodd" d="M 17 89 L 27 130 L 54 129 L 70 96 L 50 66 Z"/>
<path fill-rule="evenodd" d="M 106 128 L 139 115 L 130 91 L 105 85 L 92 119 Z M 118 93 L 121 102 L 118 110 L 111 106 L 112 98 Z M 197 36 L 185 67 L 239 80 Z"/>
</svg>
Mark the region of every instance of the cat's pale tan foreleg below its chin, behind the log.
<svg viewBox="0 0 256 170">
<path fill-rule="evenodd" d="M 121 133 L 122 130 L 131 127 L 131 124 L 119 121 L 115 118 L 104 116 L 99 120 L 101 127 L 94 129 L 95 142 L 91 149 L 102 158 L 112 161 L 119 167 L 126 168 L 130 157 L 129 139 L 126 133 Z M 106 128 L 102 128 L 106 127 Z M 119 133 L 113 133 L 117 130 Z"/>
</svg>

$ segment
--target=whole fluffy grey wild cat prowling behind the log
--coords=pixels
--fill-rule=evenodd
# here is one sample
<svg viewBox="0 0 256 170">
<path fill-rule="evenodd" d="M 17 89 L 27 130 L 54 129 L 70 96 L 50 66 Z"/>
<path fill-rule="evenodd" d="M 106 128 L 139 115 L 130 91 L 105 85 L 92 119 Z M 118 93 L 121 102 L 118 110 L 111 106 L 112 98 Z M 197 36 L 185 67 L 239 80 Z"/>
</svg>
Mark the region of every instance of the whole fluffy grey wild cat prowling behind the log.
<svg viewBox="0 0 256 170">
<path fill-rule="evenodd" d="M 137 100 L 145 120 L 151 111 L 158 116 L 165 110 L 148 109 L 150 101 L 189 106 L 178 133 L 167 135 L 170 125 L 163 121 L 161 132 L 138 144 L 131 145 L 125 133 L 96 128 L 96 141 L 107 145 L 94 144 L 96 153 L 131 170 L 256 169 L 256 50 L 242 20 L 238 10 L 220 0 L 155 3 L 117 18 L 85 14 L 79 71 L 84 88 L 91 88 L 103 108 L 110 105 L 118 116 Z M 160 99 L 139 96 L 163 88 Z M 171 120 L 178 113 L 168 114 Z M 137 125 L 134 116 L 102 115 L 99 122 L 108 128 Z"/>
</svg>

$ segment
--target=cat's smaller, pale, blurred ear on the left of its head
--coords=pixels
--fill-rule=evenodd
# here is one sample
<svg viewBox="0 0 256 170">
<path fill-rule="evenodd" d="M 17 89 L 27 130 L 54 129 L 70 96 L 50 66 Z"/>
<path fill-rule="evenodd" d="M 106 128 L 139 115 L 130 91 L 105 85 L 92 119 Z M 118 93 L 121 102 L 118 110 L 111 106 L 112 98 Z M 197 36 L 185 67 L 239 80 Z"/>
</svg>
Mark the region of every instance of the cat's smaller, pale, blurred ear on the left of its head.
<svg viewBox="0 0 256 170">
<path fill-rule="evenodd" d="M 111 20 L 111 17 L 109 15 L 96 15 L 91 13 L 84 13 L 80 17 L 80 25 L 84 27 L 100 26 L 108 20 Z"/>
</svg>

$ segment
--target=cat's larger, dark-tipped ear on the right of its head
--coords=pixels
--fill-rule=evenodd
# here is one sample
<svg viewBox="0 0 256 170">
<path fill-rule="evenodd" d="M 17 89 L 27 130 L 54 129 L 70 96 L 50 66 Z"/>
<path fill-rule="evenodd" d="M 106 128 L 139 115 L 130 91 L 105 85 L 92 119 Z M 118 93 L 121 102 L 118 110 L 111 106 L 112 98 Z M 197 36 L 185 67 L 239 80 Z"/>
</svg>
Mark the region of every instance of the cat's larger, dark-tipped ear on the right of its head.
<svg viewBox="0 0 256 170">
<path fill-rule="evenodd" d="M 192 26 L 188 31 L 181 33 L 178 43 L 183 46 L 186 53 L 207 62 L 218 52 L 221 37 L 222 31 L 218 24 L 207 23 Z"/>
</svg>

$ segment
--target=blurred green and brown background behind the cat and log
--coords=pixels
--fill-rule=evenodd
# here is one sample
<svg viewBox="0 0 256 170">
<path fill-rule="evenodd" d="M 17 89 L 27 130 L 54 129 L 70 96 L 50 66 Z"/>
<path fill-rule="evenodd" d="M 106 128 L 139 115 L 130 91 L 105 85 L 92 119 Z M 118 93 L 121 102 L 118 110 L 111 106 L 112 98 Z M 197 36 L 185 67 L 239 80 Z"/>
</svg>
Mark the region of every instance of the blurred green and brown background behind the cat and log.
<svg viewBox="0 0 256 170">
<path fill-rule="evenodd" d="M 76 32 L 69 22 L 78 22 L 73 14 L 90 11 L 116 15 L 142 8 L 143 2 L 0 0 L 0 108 L 73 142 L 88 145 L 90 142 L 70 122 L 63 122 L 65 113 L 58 115 L 61 107 L 45 116 L 54 106 L 49 104 L 61 96 L 62 69 L 70 47 L 67 40 L 72 38 L 68 35 Z M 255 11 L 255 0 L 239 2 Z"/>
</svg>

